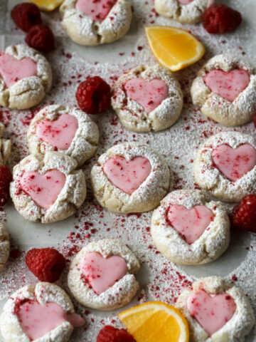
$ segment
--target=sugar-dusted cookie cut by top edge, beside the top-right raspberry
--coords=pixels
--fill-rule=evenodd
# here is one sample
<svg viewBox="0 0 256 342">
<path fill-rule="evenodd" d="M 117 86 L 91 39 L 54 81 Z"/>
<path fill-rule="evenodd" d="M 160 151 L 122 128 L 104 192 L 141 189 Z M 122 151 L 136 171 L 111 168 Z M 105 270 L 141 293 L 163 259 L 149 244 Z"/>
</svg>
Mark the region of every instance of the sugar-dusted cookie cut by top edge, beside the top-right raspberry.
<svg viewBox="0 0 256 342">
<path fill-rule="evenodd" d="M 161 16 L 196 24 L 203 18 L 203 12 L 213 1 L 211 0 L 155 0 L 156 12 Z"/>
</svg>

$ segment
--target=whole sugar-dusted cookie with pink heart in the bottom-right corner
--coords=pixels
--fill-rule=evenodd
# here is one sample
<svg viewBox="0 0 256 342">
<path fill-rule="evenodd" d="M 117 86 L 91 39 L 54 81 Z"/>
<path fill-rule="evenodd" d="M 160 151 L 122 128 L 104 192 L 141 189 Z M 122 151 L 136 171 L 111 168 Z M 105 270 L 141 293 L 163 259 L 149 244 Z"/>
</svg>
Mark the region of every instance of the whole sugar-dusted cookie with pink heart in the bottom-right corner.
<svg viewBox="0 0 256 342">
<path fill-rule="evenodd" d="M 189 326 L 191 342 L 243 342 L 255 323 L 240 289 L 220 276 L 199 279 L 176 301 Z"/>
</svg>

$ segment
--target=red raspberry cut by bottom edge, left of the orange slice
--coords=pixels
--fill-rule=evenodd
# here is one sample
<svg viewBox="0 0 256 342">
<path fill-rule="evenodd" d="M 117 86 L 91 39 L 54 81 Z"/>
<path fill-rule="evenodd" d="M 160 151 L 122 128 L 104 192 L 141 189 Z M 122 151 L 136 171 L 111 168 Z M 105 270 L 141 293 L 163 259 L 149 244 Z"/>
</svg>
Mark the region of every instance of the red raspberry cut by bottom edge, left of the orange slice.
<svg viewBox="0 0 256 342">
<path fill-rule="evenodd" d="M 105 326 L 97 336 L 97 342 L 134 342 L 133 336 L 124 329 Z"/>
</svg>

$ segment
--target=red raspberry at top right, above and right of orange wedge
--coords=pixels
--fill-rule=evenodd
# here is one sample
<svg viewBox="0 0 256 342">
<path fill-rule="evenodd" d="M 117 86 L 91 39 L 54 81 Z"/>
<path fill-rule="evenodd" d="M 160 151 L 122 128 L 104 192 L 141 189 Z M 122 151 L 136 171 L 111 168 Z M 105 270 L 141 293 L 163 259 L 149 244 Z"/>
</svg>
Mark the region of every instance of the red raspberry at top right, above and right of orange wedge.
<svg viewBox="0 0 256 342">
<path fill-rule="evenodd" d="M 203 27 L 208 33 L 234 31 L 241 21 L 241 14 L 226 5 L 213 4 L 203 14 Z"/>
</svg>

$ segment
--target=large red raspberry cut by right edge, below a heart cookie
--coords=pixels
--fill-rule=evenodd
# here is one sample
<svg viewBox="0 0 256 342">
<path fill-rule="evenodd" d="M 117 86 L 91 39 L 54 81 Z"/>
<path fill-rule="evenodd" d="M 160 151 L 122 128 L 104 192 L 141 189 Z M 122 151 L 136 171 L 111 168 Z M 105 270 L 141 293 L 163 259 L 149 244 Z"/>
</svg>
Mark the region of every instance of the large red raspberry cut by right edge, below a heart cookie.
<svg viewBox="0 0 256 342">
<path fill-rule="evenodd" d="M 234 228 L 256 233 L 256 196 L 247 195 L 233 208 L 230 221 Z"/>
</svg>

